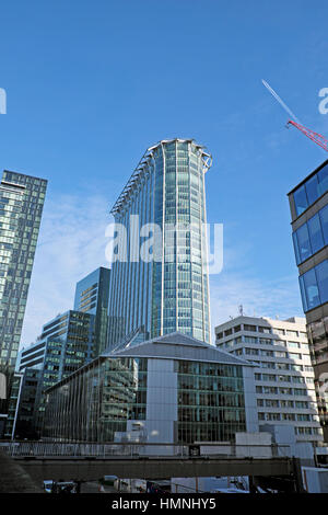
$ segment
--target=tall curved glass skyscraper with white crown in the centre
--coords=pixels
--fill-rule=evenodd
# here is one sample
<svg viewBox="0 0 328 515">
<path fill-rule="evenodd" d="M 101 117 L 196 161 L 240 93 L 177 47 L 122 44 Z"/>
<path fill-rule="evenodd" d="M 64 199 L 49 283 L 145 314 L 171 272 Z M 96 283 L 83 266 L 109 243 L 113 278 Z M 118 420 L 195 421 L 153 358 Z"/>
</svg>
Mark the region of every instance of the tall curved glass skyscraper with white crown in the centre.
<svg viewBox="0 0 328 515">
<path fill-rule="evenodd" d="M 149 148 L 115 203 L 109 347 L 183 332 L 210 341 L 204 173 L 192 139 Z"/>
</svg>

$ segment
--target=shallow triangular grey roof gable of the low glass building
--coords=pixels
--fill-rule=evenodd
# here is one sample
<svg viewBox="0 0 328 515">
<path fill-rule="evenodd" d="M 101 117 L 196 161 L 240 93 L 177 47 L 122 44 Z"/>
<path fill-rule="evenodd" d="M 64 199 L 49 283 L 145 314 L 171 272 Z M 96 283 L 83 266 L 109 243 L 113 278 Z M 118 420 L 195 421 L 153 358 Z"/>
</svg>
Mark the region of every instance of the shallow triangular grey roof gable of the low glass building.
<svg viewBox="0 0 328 515">
<path fill-rule="evenodd" d="M 133 346 L 129 346 L 128 343 L 124 348 L 102 354 L 102 357 L 153 357 L 253 366 L 246 359 L 179 332 L 148 340 Z"/>
</svg>

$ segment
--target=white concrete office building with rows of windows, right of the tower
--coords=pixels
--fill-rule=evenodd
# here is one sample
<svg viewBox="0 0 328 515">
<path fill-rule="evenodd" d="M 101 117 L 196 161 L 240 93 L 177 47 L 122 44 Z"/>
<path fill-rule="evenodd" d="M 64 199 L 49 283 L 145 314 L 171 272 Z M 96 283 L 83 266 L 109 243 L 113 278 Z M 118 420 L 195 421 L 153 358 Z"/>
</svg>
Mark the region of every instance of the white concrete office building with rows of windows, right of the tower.
<svg viewBox="0 0 328 515">
<path fill-rule="evenodd" d="M 255 366 L 259 426 L 293 425 L 297 442 L 320 442 L 305 319 L 239 316 L 215 328 L 216 346 Z"/>
</svg>

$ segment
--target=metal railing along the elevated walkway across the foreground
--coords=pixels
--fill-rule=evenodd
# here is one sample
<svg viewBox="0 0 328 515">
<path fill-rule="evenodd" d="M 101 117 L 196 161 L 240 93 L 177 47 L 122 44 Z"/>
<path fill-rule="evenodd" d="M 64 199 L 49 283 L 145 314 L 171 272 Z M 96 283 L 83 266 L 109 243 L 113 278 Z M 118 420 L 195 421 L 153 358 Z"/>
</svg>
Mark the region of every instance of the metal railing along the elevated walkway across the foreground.
<svg viewBox="0 0 328 515">
<path fill-rule="evenodd" d="M 63 443 L 63 442 L 0 442 L 0 449 L 13 458 L 286 458 L 289 445 L 261 444 L 165 444 L 165 443 Z"/>
</svg>

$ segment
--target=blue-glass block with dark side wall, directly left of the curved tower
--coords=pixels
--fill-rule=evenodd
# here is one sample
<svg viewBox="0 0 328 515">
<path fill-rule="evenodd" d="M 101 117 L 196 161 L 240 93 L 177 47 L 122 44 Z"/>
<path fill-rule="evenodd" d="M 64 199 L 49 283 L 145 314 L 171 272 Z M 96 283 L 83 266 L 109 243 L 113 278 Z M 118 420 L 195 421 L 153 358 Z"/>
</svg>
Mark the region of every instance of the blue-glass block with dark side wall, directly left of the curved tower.
<svg viewBox="0 0 328 515">
<path fill-rule="evenodd" d="M 107 346 L 109 281 L 110 270 L 101 266 L 77 284 L 73 309 L 95 317 L 93 357 Z"/>
</svg>

